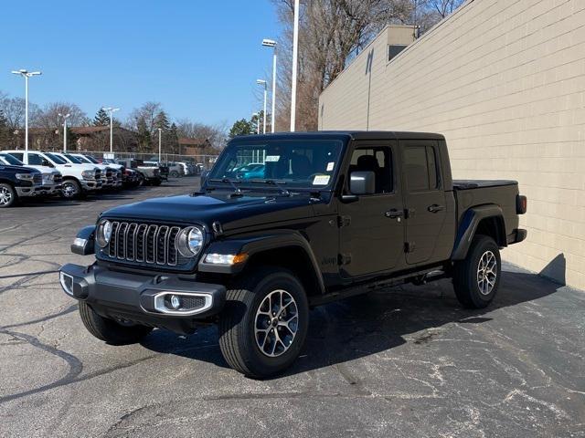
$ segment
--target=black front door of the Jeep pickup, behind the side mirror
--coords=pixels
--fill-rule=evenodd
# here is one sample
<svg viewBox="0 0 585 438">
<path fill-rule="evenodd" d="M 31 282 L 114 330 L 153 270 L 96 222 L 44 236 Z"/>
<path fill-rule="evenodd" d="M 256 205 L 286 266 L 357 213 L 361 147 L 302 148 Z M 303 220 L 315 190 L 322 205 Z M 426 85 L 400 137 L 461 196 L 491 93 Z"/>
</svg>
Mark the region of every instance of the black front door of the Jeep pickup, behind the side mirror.
<svg viewBox="0 0 585 438">
<path fill-rule="evenodd" d="M 368 276 L 393 269 L 404 255 L 404 218 L 399 178 L 396 178 L 396 143 L 357 141 L 346 174 L 374 172 L 376 193 L 340 203 L 340 272 L 346 278 Z M 349 180 L 346 178 L 346 180 Z M 349 193 L 346 181 L 345 193 Z"/>
</svg>

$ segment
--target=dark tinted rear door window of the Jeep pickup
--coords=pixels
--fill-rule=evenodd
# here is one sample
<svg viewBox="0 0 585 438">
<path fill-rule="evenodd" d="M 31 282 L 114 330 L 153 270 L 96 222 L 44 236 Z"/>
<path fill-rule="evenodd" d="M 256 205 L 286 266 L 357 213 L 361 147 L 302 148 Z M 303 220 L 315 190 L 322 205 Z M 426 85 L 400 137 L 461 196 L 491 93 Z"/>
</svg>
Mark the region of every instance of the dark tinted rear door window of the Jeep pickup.
<svg viewBox="0 0 585 438">
<path fill-rule="evenodd" d="M 426 192 L 439 187 L 437 157 L 431 146 L 406 146 L 404 172 L 409 192 Z"/>
</svg>

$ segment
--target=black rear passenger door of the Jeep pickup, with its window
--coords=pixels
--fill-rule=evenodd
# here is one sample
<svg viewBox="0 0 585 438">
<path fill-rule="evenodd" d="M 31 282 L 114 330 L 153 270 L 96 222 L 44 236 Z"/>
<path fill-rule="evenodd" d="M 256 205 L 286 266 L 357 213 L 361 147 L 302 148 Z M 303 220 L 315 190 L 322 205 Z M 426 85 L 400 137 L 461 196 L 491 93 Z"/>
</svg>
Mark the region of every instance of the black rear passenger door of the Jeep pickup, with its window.
<svg viewBox="0 0 585 438">
<path fill-rule="evenodd" d="M 406 262 L 427 264 L 444 259 L 437 243 L 446 220 L 437 141 L 400 141 L 405 186 Z"/>
</svg>

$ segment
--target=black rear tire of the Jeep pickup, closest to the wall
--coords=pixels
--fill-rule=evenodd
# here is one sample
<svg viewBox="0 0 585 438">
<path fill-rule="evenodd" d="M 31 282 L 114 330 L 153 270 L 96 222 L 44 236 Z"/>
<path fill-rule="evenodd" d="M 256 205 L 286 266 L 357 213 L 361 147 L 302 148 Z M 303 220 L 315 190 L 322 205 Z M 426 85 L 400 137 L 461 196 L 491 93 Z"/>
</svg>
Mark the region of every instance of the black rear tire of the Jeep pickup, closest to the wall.
<svg viewBox="0 0 585 438">
<path fill-rule="evenodd" d="M 495 257 L 495 265 L 492 269 L 481 269 L 480 263 L 492 260 L 490 253 Z M 495 272 L 495 276 L 490 274 L 491 271 Z M 455 296 L 464 308 L 486 308 L 497 293 L 501 276 L 500 248 L 492 237 L 476 235 L 467 257 L 454 266 Z"/>
</svg>

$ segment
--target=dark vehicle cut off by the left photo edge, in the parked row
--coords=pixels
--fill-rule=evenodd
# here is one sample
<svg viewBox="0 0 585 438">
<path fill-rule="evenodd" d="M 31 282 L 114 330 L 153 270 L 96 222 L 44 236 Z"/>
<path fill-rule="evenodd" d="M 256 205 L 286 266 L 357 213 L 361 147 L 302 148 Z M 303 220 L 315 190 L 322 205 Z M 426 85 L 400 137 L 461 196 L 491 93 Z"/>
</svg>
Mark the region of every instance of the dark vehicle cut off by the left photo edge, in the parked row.
<svg viewBox="0 0 585 438">
<path fill-rule="evenodd" d="M 42 183 L 43 175 L 36 169 L 0 161 L 0 208 L 14 206 L 19 198 L 41 194 L 44 191 Z"/>
</svg>

